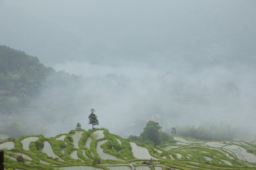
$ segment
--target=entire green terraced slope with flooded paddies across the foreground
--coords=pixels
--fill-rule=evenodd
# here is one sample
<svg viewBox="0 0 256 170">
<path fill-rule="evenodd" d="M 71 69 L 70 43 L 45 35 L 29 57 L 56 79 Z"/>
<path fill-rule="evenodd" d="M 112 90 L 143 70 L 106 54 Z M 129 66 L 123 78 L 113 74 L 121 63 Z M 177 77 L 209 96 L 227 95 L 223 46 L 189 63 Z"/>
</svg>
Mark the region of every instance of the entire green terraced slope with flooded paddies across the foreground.
<svg viewBox="0 0 256 170">
<path fill-rule="evenodd" d="M 59 139 L 59 140 L 58 140 Z M 0 143 L 6 169 L 20 170 L 255 170 L 256 145 L 243 141 L 198 141 L 146 145 L 110 134 L 108 129 L 71 130 L 46 138 L 21 136 Z M 15 160 L 19 155 L 25 163 Z M 101 165 L 93 163 L 95 158 Z M 141 165 L 141 161 L 154 165 Z"/>
</svg>

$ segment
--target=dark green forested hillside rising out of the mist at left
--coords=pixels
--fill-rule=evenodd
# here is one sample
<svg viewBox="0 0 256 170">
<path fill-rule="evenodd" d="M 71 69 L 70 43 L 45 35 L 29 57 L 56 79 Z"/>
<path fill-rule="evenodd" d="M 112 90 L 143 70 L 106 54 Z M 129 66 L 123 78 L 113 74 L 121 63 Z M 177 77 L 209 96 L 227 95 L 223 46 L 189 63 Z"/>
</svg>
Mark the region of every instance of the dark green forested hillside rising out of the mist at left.
<svg viewBox="0 0 256 170">
<path fill-rule="evenodd" d="M 0 46 L 0 112 L 26 107 L 46 87 L 46 76 L 54 72 L 37 57 L 24 51 Z"/>
</svg>

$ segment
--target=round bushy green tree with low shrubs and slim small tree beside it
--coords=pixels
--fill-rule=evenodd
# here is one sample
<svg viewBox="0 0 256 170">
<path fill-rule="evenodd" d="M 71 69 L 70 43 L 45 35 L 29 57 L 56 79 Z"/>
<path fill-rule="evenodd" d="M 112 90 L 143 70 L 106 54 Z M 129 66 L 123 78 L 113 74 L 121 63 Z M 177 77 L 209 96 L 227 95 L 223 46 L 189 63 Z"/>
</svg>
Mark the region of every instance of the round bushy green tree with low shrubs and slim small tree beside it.
<svg viewBox="0 0 256 170">
<path fill-rule="evenodd" d="M 162 127 L 159 126 L 158 122 L 150 120 L 147 122 L 146 127 L 140 136 L 131 135 L 128 137 L 128 139 L 153 145 L 159 145 L 165 142 L 173 142 L 173 136 L 176 135 L 175 127 L 171 128 L 172 136 L 161 130 Z"/>
</svg>

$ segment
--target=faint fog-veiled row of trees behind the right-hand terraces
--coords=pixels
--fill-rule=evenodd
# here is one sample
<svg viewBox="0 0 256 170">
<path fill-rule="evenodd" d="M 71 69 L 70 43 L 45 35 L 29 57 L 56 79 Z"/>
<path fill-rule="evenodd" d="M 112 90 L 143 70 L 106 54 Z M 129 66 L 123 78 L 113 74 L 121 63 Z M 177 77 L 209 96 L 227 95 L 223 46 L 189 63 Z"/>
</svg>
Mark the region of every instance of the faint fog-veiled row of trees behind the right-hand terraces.
<svg viewBox="0 0 256 170">
<path fill-rule="evenodd" d="M 235 136 L 235 128 L 226 124 L 212 125 L 210 127 L 199 126 L 195 128 L 191 125 L 177 126 L 179 135 L 184 137 L 193 137 L 201 140 L 229 140 L 232 141 Z"/>
</svg>

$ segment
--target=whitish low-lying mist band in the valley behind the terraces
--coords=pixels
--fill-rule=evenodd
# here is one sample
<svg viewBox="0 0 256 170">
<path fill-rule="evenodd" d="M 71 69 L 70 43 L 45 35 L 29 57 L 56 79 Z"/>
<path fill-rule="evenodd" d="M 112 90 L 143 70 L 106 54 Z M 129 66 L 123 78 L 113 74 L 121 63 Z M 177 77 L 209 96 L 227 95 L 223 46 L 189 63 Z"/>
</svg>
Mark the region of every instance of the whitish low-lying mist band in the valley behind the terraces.
<svg viewBox="0 0 256 170">
<path fill-rule="evenodd" d="M 95 109 L 100 123 L 96 127 L 122 137 L 139 135 L 147 121 L 154 120 L 167 132 L 183 125 L 225 124 L 235 138 L 253 140 L 255 69 L 240 66 L 239 72 L 219 65 L 192 73 L 184 65 L 151 70 L 75 61 L 58 64 L 57 71 L 68 73 L 57 84 L 51 84 L 56 75 L 48 77 L 49 87 L 34 103 L 37 113 L 26 119 L 41 122 L 37 133 L 55 136 L 74 129 L 77 122 L 91 128 L 88 116 Z M 60 73 L 64 71 L 56 74 Z"/>
</svg>

